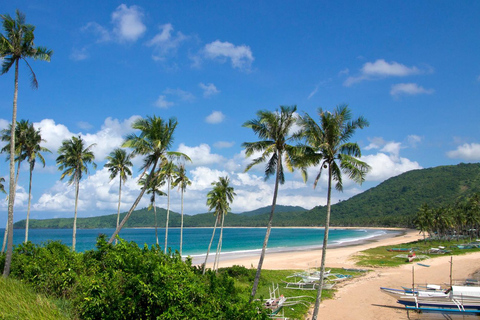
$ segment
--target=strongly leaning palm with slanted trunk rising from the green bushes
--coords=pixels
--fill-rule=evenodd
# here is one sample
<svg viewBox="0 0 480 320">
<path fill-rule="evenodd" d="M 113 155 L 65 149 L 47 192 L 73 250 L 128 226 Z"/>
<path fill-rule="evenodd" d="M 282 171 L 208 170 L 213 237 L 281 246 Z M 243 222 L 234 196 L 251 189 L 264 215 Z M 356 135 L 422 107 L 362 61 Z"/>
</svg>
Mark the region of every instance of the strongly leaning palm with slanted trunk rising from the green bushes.
<svg viewBox="0 0 480 320">
<path fill-rule="evenodd" d="M 142 166 L 142 176 L 150 169 L 150 174 L 148 176 L 153 177 L 158 162 L 166 157 L 183 158 L 190 161 L 190 158 L 181 152 L 168 151 L 173 144 L 173 133 L 176 127 L 176 119 L 170 118 L 168 121 L 165 121 L 156 116 L 147 117 L 145 119 L 139 118 L 132 123 L 132 128 L 140 130 L 140 133 L 138 135 L 135 133 L 129 134 L 122 146 L 132 148 L 132 154 L 134 155 L 145 156 L 144 164 Z M 147 187 L 148 181 L 142 187 L 137 199 L 123 218 L 122 222 L 120 222 L 117 229 L 115 229 L 115 232 L 110 237 L 108 243 L 112 243 L 120 230 L 122 230 L 123 226 L 132 215 L 133 210 L 135 210 L 142 199 Z"/>
</svg>

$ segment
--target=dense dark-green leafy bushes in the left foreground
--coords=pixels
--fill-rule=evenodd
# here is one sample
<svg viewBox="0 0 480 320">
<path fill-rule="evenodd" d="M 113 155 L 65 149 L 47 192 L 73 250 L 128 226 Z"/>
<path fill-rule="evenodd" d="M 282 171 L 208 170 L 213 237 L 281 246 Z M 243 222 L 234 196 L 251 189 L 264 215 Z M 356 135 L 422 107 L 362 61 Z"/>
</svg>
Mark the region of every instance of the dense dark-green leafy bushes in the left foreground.
<svg viewBox="0 0 480 320">
<path fill-rule="evenodd" d="M 4 256 L 0 257 L 3 266 Z M 178 253 L 139 248 L 100 236 L 95 250 L 76 253 L 59 242 L 15 248 L 11 276 L 72 302 L 81 319 L 264 319 L 228 274 L 183 262 Z"/>
</svg>

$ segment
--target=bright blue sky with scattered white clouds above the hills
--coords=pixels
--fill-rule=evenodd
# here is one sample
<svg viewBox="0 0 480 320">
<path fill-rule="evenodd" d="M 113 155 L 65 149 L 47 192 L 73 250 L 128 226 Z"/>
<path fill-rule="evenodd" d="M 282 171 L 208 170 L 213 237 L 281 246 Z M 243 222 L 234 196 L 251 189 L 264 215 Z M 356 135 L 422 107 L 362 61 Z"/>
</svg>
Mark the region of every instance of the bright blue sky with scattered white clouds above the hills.
<svg viewBox="0 0 480 320">
<path fill-rule="evenodd" d="M 20 68 L 17 119 L 41 128 L 53 152 L 34 172 L 32 218 L 73 216 L 74 190 L 59 181 L 55 158 L 78 134 L 96 143 L 98 165 L 81 183 L 79 216 L 115 213 L 118 181 L 109 181 L 105 157 L 136 117 L 154 114 L 177 118 L 173 150 L 193 159 L 188 214 L 207 211 L 210 184 L 225 175 L 237 193 L 233 212 L 271 203 L 263 167 L 243 172 L 241 144 L 257 137 L 242 124 L 280 105 L 315 118 L 319 107 L 348 104 L 370 122 L 353 140 L 372 171 L 362 186 L 345 181 L 334 202 L 409 170 L 480 160 L 476 1 L 8 1 L 0 13 L 17 8 L 36 26 L 36 45 L 54 50 L 50 63 L 29 61 L 38 90 Z M 0 129 L 11 121 L 13 80 L 13 70 L 0 76 Z M 139 192 L 140 163 L 122 210 Z M 26 215 L 27 170 L 15 221 Z M 294 173 L 278 203 L 312 208 L 325 198 L 326 183 L 313 190 Z M 145 197 L 139 208 L 147 205 Z M 6 211 L 0 201 L 0 226 Z"/>
</svg>

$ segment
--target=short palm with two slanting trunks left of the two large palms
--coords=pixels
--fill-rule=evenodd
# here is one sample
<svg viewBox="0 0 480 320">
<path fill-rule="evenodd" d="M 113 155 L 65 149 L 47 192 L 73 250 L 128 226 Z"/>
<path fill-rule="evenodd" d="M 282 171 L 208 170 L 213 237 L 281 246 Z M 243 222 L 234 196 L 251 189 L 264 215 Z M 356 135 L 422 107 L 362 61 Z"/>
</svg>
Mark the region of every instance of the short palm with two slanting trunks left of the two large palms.
<svg viewBox="0 0 480 320">
<path fill-rule="evenodd" d="M 205 257 L 205 263 L 203 265 L 203 273 L 205 274 L 205 268 L 207 265 L 208 254 L 212 246 L 213 237 L 215 236 L 215 230 L 217 222 L 222 221 L 220 229 L 220 237 L 218 239 L 217 252 L 215 254 L 215 262 L 213 264 L 213 270 L 218 270 L 218 263 L 220 259 L 220 252 L 222 250 L 222 237 L 223 237 L 223 223 L 225 221 L 225 215 L 230 210 L 230 203 L 233 202 L 233 198 L 236 196 L 233 187 L 229 186 L 230 179 L 228 177 L 219 177 L 217 182 L 212 182 L 213 189 L 207 194 L 207 206 L 208 211 L 215 210 L 215 226 L 213 228 L 212 238 L 208 246 L 207 255 Z"/>
</svg>

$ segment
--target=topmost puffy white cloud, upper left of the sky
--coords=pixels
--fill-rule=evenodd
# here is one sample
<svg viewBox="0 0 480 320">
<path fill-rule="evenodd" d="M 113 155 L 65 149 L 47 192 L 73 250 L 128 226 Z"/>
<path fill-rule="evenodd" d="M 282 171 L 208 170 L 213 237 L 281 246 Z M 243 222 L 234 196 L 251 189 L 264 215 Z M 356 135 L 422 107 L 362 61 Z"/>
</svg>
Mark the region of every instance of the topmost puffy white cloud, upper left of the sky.
<svg viewBox="0 0 480 320">
<path fill-rule="evenodd" d="M 140 7 L 132 5 L 129 8 L 121 4 L 112 13 L 113 33 L 120 42 L 137 41 L 147 30 L 142 19 L 143 12 Z"/>
</svg>

